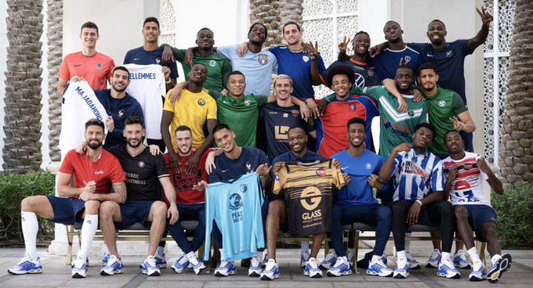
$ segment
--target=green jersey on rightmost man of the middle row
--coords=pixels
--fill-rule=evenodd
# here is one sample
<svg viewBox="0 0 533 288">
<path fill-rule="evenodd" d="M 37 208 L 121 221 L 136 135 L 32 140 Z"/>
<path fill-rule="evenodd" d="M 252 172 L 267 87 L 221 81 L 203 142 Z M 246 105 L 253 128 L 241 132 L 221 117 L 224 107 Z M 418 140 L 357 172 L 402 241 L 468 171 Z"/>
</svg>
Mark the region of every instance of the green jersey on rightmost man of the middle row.
<svg viewBox="0 0 533 288">
<path fill-rule="evenodd" d="M 429 147 L 429 151 L 433 154 L 448 154 L 448 150 L 444 148 L 444 134 L 453 130 L 453 123 L 450 118 L 456 117 L 468 109 L 458 93 L 440 87 L 437 88 L 435 95 L 431 97 L 424 95 L 424 98 L 426 98 L 428 105 L 429 123 L 433 124 L 437 130 L 437 135 L 433 137 L 433 144 Z"/>
</svg>

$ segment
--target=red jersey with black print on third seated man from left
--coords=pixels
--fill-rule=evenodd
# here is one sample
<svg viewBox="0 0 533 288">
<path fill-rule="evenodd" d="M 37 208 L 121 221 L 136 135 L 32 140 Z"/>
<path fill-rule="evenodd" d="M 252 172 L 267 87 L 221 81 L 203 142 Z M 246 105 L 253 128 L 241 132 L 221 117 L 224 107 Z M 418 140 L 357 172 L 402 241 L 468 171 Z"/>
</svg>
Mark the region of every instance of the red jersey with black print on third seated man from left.
<svg viewBox="0 0 533 288">
<path fill-rule="evenodd" d="M 179 157 L 179 164 L 181 165 L 181 172 L 176 173 L 172 168 L 170 168 L 170 162 L 168 160 L 168 153 L 163 154 L 165 159 L 165 164 L 167 165 L 168 172 L 170 173 L 170 181 L 174 185 L 176 190 L 176 203 L 177 204 L 198 204 L 206 201 L 206 192 L 193 190 L 192 186 L 196 185 L 199 181 L 205 180 L 208 182 L 208 174 L 206 172 L 206 159 L 209 152 L 214 149 L 208 149 L 201 155 L 200 160 L 198 161 L 197 169 L 188 174 L 186 172 L 186 163 L 195 154 L 196 149 L 192 149 L 188 156 L 181 156 L 179 152 L 177 153 Z M 165 193 L 163 193 L 163 201 L 167 204 L 170 204 Z"/>
</svg>

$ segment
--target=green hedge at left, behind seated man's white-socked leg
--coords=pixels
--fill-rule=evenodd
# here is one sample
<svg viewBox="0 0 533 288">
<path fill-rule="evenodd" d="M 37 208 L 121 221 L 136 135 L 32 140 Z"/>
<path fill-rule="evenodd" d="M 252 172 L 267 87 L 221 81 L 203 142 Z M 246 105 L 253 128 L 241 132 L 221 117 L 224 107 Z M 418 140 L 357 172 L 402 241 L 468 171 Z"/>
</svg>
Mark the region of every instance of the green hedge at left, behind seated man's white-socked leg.
<svg viewBox="0 0 533 288">
<path fill-rule="evenodd" d="M 0 241 L 22 242 L 20 203 L 34 195 L 54 195 L 55 177 L 51 172 L 29 171 L 0 177 Z M 38 241 L 53 238 L 53 223 L 39 219 Z"/>
</svg>

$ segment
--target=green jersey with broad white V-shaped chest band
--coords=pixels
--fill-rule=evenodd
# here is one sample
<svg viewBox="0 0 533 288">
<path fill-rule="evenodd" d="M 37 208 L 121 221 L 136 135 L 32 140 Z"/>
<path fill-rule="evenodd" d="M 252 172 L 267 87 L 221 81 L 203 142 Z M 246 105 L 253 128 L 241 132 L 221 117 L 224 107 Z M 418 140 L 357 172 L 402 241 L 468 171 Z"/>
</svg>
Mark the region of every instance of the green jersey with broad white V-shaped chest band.
<svg viewBox="0 0 533 288">
<path fill-rule="evenodd" d="M 383 86 L 352 87 L 350 93 L 370 96 L 379 103 L 379 156 L 383 158 L 397 145 L 413 142 L 416 125 L 428 122 L 426 101 L 415 102 L 413 95 L 402 95 L 408 107 L 407 112 L 402 113 L 397 110 L 397 98 Z"/>
</svg>

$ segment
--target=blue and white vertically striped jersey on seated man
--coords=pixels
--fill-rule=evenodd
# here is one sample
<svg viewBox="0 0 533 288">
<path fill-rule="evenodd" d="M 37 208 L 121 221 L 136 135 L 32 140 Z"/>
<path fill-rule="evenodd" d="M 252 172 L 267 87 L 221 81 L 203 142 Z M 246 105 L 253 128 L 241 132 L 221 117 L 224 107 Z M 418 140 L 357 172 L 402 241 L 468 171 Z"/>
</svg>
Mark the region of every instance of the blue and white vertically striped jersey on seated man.
<svg viewBox="0 0 533 288">
<path fill-rule="evenodd" d="M 442 173 L 442 162 L 427 150 L 420 154 L 411 146 L 409 152 L 399 152 L 392 164 L 392 201 L 422 199 L 431 191 L 444 191 Z"/>
</svg>

